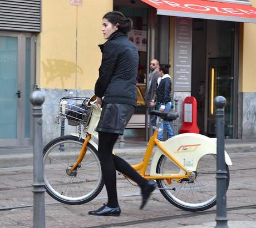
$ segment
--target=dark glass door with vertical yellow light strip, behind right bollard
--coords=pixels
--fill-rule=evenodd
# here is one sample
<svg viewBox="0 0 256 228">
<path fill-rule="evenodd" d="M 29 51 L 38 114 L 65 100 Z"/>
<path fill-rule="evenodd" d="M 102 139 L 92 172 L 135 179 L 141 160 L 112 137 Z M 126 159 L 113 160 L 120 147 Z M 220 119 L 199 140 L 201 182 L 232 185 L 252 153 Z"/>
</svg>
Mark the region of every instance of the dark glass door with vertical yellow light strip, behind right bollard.
<svg viewBox="0 0 256 228">
<path fill-rule="evenodd" d="M 235 59 L 235 23 L 227 21 L 206 21 L 206 86 L 205 93 L 205 132 L 215 136 L 214 97 L 227 99 L 225 106 L 225 138 L 234 138 L 235 107 L 237 100 L 237 73 Z"/>
</svg>

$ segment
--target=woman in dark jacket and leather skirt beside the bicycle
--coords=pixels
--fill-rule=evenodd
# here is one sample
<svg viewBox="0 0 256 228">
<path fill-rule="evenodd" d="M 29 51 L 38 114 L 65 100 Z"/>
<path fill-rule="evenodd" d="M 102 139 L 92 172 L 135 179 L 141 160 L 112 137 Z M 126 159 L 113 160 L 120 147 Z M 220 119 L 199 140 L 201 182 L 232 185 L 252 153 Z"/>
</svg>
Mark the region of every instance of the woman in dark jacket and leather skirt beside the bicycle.
<svg viewBox="0 0 256 228">
<path fill-rule="evenodd" d="M 132 28 L 131 19 L 127 19 L 121 12 L 113 11 L 105 14 L 102 22 L 102 32 L 107 42 L 99 45 L 102 61 L 95 84 L 95 95 L 102 112 L 96 131 L 99 133 L 98 153 L 108 201 L 100 209 L 89 211 L 88 214 L 119 216 L 121 209 L 117 200 L 116 170 L 129 176 L 140 186 L 140 209 L 155 190 L 156 183 L 142 178 L 124 159 L 112 154 L 116 140 L 119 135 L 124 134 L 125 126 L 137 104 L 139 55 L 135 45 L 126 36 Z"/>
</svg>

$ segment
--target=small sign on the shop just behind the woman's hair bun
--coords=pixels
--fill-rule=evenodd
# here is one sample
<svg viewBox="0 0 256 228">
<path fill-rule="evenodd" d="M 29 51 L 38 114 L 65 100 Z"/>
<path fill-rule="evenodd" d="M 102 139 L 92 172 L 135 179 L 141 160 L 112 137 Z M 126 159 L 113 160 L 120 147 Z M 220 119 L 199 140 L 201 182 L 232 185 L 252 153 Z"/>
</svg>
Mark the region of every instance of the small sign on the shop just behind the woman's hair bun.
<svg viewBox="0 0 256 228">
<path fill-rule="evenodd" d="M 139 52 L 147 51 L 147 31 L 132 29 L 127 36 L 136 45 Z"/>
</svg>

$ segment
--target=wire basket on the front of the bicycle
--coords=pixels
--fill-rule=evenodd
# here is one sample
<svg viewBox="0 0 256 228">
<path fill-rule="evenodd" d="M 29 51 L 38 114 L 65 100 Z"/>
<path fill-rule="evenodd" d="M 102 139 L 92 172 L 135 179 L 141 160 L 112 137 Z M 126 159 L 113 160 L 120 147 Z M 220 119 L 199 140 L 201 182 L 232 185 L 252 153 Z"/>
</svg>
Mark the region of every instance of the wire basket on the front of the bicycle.
<svg viewBox="0 0 256 228">
<path fill-rule="evenodd" d="M 68 125 L 87 127 L 92 109 L 86 103 L 90 98 L 63 97 L 60 99 L 59 114 L 63 119 L 67 119 Z"/>
</svg>

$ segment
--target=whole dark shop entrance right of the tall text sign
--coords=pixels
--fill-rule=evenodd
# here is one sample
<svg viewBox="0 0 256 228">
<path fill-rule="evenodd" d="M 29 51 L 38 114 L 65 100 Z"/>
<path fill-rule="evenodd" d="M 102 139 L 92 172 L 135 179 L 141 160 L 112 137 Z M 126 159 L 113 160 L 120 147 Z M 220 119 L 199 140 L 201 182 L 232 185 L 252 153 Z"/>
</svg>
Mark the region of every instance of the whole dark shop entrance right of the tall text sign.
<svg viewBox="0 0 256 228">
<path fill-rule="evenodd" d="M 215 136 L 214 97 L 227 99 L 225 138 L 237 138 L 237 29 L 235 22 L 194 19 L 191 95 L 201 134 Z"/>
</svg>

